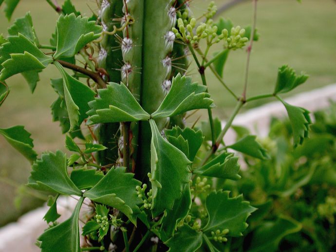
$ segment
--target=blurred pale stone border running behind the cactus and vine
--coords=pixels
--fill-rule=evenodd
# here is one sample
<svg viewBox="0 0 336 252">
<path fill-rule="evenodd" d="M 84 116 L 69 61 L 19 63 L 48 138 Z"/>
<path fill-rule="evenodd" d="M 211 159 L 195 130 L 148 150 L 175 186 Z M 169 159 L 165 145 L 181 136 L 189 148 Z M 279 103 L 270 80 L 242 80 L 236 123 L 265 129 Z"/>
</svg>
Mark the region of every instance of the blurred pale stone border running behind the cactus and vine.
<svg viewBox="0 0 336 252">
<path fill-rule="evenodd" d="M 300 93 L 285 100 L 291 105 L 307 108 L 310 111 L 326 108 L 329 100 L 336 101 L 336 84 Z M 267 135 L 271 116 L 281 117 L 285 114 L 286 110 L 280 102 L 272 102 L 238 115 L 233 124 L 247 126 L 252 133 L 257 133 L 262 137 Z M 230 144 L 234 142 L 234 139 L 234 131 L 229 130 L 224 138 L 225 142 Z M 71 215 L 70 209 L 74 208 L 75 203 L 74 198 L 58 199 L 57 211 L 62 215 L 60 221 Z M 21 216 L 17 222 L 0 228 L 0 252 L 39 252 L 34 244 L 38 235 L 47 228 L 47 224 L 42 220 L 47 210 L 47 206 L 40 207 Z"/>
</svg>

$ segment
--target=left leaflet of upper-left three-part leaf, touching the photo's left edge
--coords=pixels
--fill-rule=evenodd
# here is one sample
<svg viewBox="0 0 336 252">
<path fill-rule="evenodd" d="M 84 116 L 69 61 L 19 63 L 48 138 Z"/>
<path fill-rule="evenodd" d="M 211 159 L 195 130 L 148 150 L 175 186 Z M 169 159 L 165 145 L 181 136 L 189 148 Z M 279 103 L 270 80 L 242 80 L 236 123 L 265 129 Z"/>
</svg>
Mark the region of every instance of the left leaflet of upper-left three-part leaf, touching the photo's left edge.
<svg viewBox="0 0 336 252">
<path fill-rule="evenodd" d="M 21 34 L 8 36 L 8 42 L 0 47 L 0 55 L 0 64 L 3 68 L 0 72 L 0 80 L 20 72 L 41 71 L 53 62 L 52 57 L 43 54 Z"/>
</svg>

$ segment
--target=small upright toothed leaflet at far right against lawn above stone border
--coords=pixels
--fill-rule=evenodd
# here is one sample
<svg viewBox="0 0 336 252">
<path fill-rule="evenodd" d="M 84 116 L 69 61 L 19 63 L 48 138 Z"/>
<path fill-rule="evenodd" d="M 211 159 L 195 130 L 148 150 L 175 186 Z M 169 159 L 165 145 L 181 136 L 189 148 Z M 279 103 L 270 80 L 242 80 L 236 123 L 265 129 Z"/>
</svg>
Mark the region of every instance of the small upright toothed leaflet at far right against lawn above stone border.
<svg viewBox="0 0 336 252">
<path fill-rule="evenodd" d="M 297 75 L 293 68 L 286 65 L 278 70 L 278 79 L 274 93 L 286 93 L 306 82 L 308 75 L 301 73 Z"/>
</svg>

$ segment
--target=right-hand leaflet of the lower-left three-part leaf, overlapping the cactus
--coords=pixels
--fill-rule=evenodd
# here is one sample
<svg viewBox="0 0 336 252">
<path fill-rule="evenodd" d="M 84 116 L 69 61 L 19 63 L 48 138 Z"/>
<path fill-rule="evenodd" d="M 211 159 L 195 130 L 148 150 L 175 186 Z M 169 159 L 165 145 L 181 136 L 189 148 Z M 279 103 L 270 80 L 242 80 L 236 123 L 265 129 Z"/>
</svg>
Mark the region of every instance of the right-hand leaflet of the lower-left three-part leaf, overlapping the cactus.
<svg viewBox="0 0 336 252">
<path fill-rule="evenodd" d="M 141 182 L 133 179 L 134 174 L 125 173 L 125 169 L 112 167 L 104 178 L 83 196 L 120 210 L 135 224 L 136 214 L 140 213 L 137 205 L 141 204 L 135 187 L 141 185 Z"/>
</svg>

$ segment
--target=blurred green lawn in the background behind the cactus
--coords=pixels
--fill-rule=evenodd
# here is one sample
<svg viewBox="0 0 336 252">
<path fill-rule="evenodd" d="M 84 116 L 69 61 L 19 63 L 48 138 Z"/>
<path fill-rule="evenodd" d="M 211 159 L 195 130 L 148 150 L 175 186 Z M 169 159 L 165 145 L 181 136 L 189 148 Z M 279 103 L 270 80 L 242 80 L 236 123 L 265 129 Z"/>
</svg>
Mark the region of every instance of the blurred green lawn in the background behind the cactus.
<svg viewBox="0 0 336 252">
<path fill-rule="evenodd" d="M 95 0 L 73 2 L 84 15 L 91 16 L 90 8 L 97 12 Z M 195 16 L 203 13 L 208 2 L 209 0 L 191 2 Z M 216 0 L 218 6 L 224 2 Z M 24 16 L 28 10 L 31 11 L 40 42 L 47 44 L 54 32 L 57 14 L 43 0 L 21 0 L 10 23 L 15 18 Z M 336 4 L 333 0 L 302 0 L 301 4 L 295 0 L 259 0 L 257 27 L 261 36 L 254 44 L 251 55 L 247 95 L 271 92 L 276 81 L 277 69 L 283 64 L 289 64 L 297 71 L 305 71 L 310 75 L 307 83 L 290 95 L 336 82 L 335 13 Z M 235 25 L 247 25 L 251 23 L 252 6 L 250 2 L 246 2 L 223 13 L 222 16 L 230 18 Z M 7 35 L 10 23 L 1 10 L 0 33 Z M 220 49 L 218 46 L 211 54 Z M 243 88 L 245 61 L 245 51 L 233 52 L 224 72 L 225 82 L 237 94 L 240 94 Z M 189 72 L 193 73 L 195 80 L 199 80 L 195 67 Z M 64 137 L 58 123 L 52 122 L 50 112 L 50 105 L 56 99 L 56 94 L 50 87 L 49 80 L 55 77 L 59 77 L 56 68 L 48 67 L 40 74 L 41 80 L 34 94 L 30 93 L 22 77 L 11 77 L 7 81 L 11 93 L 0 108 L 0 127 L 26 126 L 32 133 L 35 149 L 39 154 L 46 150 L 64 149 Z M 214 114 L 225 119 L 236 101 L 211 72 L 208 72 L 207 82 L 217 105 Z M 266 101 L 251 103 L 246 108 L 261 105 Z M 202 118 L 206 120 L 206 114 L 202 114 Z M 0 150 L 0 176 L 25 183 L 31 170 L 30 164 L 2 138 Z M 0 192 L 0 226 L 15 220 L 17 216 L 40 203 L 36 199 L 26 197 L 21 208 L 17 209 L 13 204 L 16 189 L 0 182 Z"/>
</svg>

